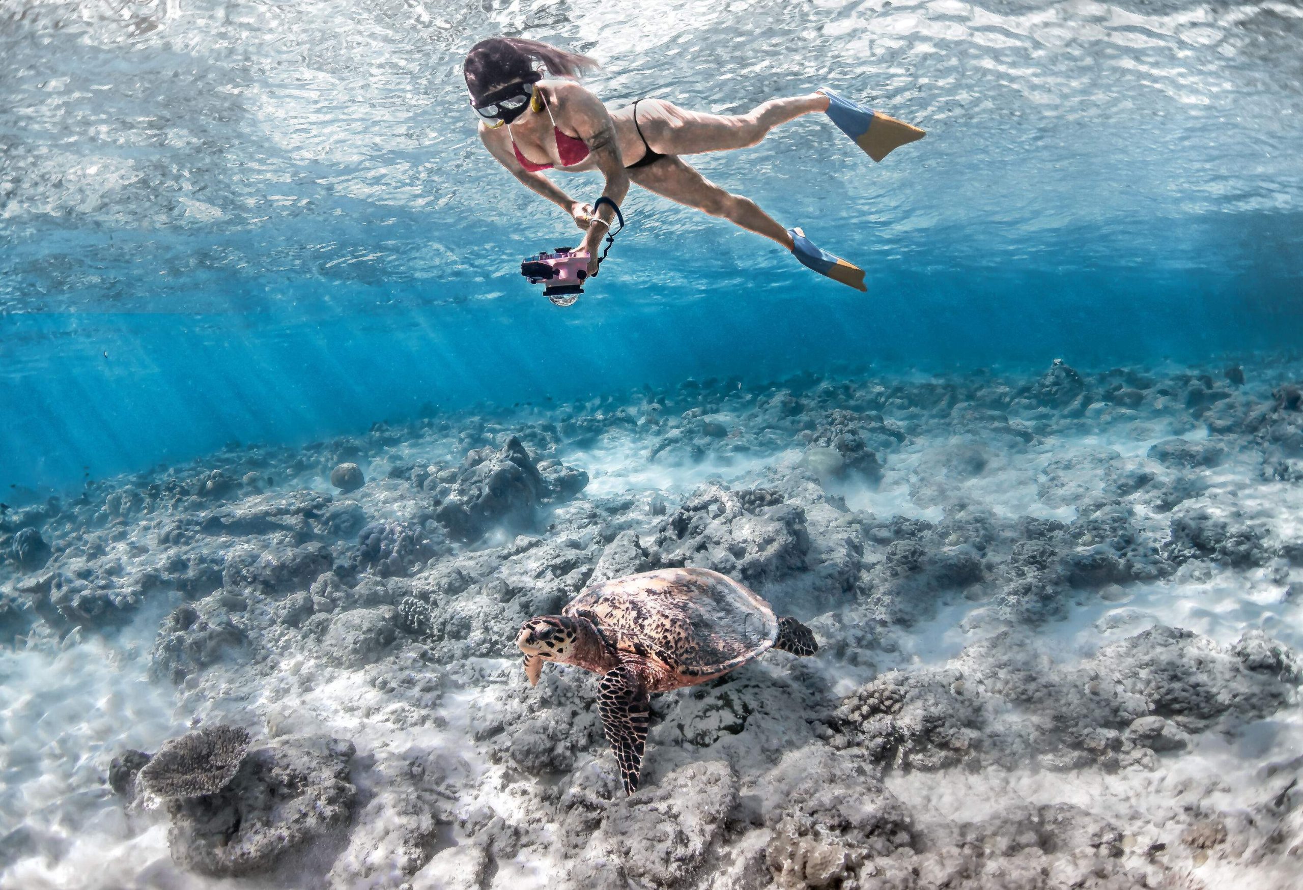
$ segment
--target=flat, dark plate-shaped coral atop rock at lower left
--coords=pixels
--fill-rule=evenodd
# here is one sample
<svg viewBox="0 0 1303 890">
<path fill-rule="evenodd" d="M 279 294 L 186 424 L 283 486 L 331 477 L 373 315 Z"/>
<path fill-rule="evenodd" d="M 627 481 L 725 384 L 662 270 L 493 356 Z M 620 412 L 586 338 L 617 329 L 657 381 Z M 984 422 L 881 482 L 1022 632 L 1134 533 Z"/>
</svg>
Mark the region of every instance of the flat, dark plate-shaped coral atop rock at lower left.
<svg viewBox="0 0 1303 890">
<path fill-rule="evenodd" d="M 248 751 L 246 730 L 206 726 L 164 743 L 139 769 L 138 782 L 145 792 L 164 799 L 216 794 L 235 777 Z"/>
</svg>

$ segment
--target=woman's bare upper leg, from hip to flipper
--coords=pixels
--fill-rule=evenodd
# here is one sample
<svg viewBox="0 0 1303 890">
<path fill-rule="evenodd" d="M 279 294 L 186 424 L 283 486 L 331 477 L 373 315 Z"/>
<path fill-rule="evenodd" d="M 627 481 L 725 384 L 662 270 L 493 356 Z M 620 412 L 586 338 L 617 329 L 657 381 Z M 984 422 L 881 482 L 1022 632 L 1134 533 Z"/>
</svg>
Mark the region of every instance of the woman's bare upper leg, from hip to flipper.
<svg viewBox="0 0 1303 890">
<path fill-rule="evenodd" d="M 779 124 L 821 111 L 827 111 L 827 96 L 822 93 L 770 99 L 745 115 L 708 115 L 679 108 L 663 99 L 644 99 L 638 103 L 637 122 L 655 151 L 696 155 L 748 149 L 758 145 Z"/>
</svg>

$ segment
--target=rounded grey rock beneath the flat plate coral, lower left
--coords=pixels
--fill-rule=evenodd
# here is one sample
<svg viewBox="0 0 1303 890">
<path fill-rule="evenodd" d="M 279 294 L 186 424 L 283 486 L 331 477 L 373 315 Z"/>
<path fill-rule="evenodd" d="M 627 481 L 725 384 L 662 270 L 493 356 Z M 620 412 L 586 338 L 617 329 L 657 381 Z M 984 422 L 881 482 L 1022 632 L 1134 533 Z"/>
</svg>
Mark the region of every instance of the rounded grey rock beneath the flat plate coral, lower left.
<svg viewBox="0 0 1303 890">
<path fill-rule="evenodd" d="M 287 736 L 248 752 L 218 792 L 168 804 L 168 843 L 181 867 L 212 877 L 272 869 L 283 856 L 340 831 L 353 812 L 351 741 Z"/>
</svg>

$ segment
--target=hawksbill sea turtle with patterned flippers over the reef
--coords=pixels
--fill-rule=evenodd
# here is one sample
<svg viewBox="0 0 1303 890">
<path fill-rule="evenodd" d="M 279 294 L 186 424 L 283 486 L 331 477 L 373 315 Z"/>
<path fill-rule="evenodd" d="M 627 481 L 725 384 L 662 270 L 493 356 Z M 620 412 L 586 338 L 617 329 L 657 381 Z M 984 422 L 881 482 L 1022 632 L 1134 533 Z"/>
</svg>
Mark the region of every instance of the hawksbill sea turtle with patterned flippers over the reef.
<svg viewBox="0 0 1303 890">
<path fill-rule="evenodd" d="M 705 568 L 594 584 L 560 615 L 525 622 L 516 645 L 525 653 L 530 685 L 549 661 L 602 675 L 598 711 L 627 794 L 638 787 L 653 692 L 705 683 L 770 648 L 794 655 L 818 652 L 808 627 L 775 618 L 767 602 Z"/>
</svg>

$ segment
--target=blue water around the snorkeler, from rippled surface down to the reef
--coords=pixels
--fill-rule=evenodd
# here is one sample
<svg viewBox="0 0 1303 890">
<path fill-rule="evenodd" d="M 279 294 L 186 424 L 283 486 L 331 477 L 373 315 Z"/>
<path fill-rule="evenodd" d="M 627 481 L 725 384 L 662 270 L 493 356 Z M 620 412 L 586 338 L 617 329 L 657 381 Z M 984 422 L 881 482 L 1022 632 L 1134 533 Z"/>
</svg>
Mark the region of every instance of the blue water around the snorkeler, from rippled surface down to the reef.
<svg viewBox="0 0 1303 890">
<path fill-rule="evenodd" d="M 822 116 L 694 160 L 869 293 L 635 189 L 546 304 L 519 258 L 575 229 L 476 138 L 491 34 L 594 55 L 612 107 L 826 83 L 928 129 L 883 164 Z M 1293 3 L 13 0 L 0 85 L 5 487 L 691 375 L 1303 345 Z"/>
</svg>

